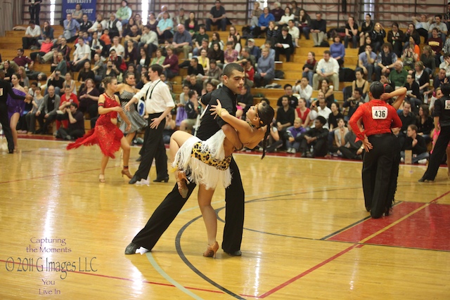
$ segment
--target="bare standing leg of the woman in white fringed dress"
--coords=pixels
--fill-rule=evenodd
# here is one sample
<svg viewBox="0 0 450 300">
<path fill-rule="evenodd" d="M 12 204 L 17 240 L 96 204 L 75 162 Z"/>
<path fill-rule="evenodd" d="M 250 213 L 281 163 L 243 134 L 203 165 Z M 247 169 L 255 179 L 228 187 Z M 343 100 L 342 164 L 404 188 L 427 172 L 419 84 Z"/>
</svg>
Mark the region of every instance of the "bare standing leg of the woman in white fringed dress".
<svg viewBox="0 0 450 300">
<path fill-rule="evenodd" d="M 217 216 L 216 211 L 211 206 L 214 190 L 207 190 L 205 185 L 198 187 L 198 206 L 202 211 L 203 221 L 205 221 L 208 244 L 212 245 L 216 242 L 217 236 Z"/>
</svg>

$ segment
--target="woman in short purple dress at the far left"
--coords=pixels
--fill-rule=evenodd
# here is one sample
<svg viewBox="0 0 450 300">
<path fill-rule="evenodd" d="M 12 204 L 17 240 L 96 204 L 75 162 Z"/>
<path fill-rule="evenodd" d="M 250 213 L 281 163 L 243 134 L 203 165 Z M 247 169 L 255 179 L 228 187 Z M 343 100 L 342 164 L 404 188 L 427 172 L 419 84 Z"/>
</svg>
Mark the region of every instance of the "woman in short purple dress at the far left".
<svg viewBox="0 0 450 300">
<path fill-rule="evenodd" d="M 20 86 L 20 75 L 14 73 L 11 75 L 11 83 L 13 84 L 13 91 L 16 95 L 25 96 L 27 93 L 22 86 Z M 30 101 L 27 103 L 30 103 Z M 25 101 L 24 100 L 15 100 L 11 96 L 8 95 L 8 100 L 6 100 L 6 105 L 8 105 L 8 119 L 9 126 L 11 127 L 11 132 L 13 133 L 13 141 L 14 141 L 14 149 L 18 149 L 17 145 L 17 122 L 19 121 L 20 115 L 22 115 L 23 110 L 25 109 Z"/>
</svg>

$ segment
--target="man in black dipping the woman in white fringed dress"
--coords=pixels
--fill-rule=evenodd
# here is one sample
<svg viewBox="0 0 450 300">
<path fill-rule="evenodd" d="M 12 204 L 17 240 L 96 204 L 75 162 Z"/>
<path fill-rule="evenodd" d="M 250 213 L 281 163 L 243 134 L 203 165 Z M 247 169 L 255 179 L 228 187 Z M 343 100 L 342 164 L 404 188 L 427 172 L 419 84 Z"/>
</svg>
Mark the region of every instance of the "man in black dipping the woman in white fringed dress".
<svg viewBox="0 0 450 300">
<path fill-rule="evenodd" d="M 244 70 L 240 65 L 230 63 L 224 68 L 223 74 L 224 86 L 221 89 L 207 93 L 200 99 L 208 107 L 205 109 L 206 112 L 200 123 L 197 137 L 201 140 L 207 140 L 207 138 L 213 136 L 219 129 L 222 129 L 226 138 L 233 143 L 236 149 L 240 150 L 243 148 L 243 144 L 240 143 L 236 130 L 225 123 L 220 117 L 214 119 L 209 113 L 210 106 L 217 105 L 217 99 L 219 99 L 223 108 L 228 110 L 231 115 L 236 115 L 236 94 L 240 93 L 240 89 L 243 87 L 245 79 Z M 225 190 L 226 215 L 222 249 L 231 256 L 240 256 L 240 243 L 242 242 L 244 225 L 244 189 L 238 165 L 234 159 L 231 159 L 230 170 L 233 177 L 231 178 L 231 185 Z M 195 183 L 188 184 L 188 196 L 186 199 L 183 199 L 178 191 L 178 185 L 175 184 L 172 192 L 165 197 L 165 200 L 155 210 L 146 226 L 127 246 L 125 254 L 135 254 L 136 249 L 140 247 L 151 251 L 162 233 L 174 221 L 194 188 Z"/>
</svg>

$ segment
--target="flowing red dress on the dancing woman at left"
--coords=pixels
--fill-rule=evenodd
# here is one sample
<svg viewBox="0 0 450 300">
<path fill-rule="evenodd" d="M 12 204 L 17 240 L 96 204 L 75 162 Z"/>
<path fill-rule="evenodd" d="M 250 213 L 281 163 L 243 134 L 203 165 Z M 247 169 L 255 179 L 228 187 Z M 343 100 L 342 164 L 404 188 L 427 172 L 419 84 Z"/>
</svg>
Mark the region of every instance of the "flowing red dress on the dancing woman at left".
<svg viewBox="0 0 450 300">
<path fill-rule="evenodd" d="M 105 108 L 120 106 L 115 98 L 110 98 L 106 93 Z M 90 146 L 98 144 L 103 155 L 115 158 L 114 153 L 120 149 L 120 140 L 124 133 L 120 131 L 116 124 L 111 122 L 112 119 L 117 119 L 117 112 L 108 112 L 105 115 L 98 117 L 96 126 L 86 133 L 82 138 L 78 138 L 74 143 L 70 143 L 68 150 L 78 148 L 81 145 Z"/>
</svg>

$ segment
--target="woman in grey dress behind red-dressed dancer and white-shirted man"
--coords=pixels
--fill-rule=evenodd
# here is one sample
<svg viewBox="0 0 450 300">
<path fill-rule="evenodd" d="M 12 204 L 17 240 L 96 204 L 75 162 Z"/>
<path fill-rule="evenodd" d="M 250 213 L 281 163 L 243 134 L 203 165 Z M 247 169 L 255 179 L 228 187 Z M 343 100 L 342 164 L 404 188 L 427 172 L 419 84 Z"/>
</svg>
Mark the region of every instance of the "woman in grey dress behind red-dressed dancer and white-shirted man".
<svg viewBox="0 0 450 300">
<path fill-rule="evenodd" d="M 120 104 L 122 105 L 122 109 L 124 110 L 125 115 L 127 115 L 129 121 L 131 122 L 131 129 L 127 129 L 126 124 L 124 122 L 120 123 L 120 131 L 126 133 L 125 137 L 131 145 L 134 136 L 136 136 L 136 131 L 148 125 L 146 119 L 139 115 L 139 112 L 136 111 L 134 105 L 128 105 L 126 108 L 125 105 L 133 98 L 133 96 L 139 91 L 138 89 L 134 89 L 133 86 L 136 85 L 136 79 L 134 78 L 134 74 L 131 72 L 127 72 L 124 77 L 124 84 L 119 84 L 117 86 L 117 92 L 119 93 Z"/>
</svg>

